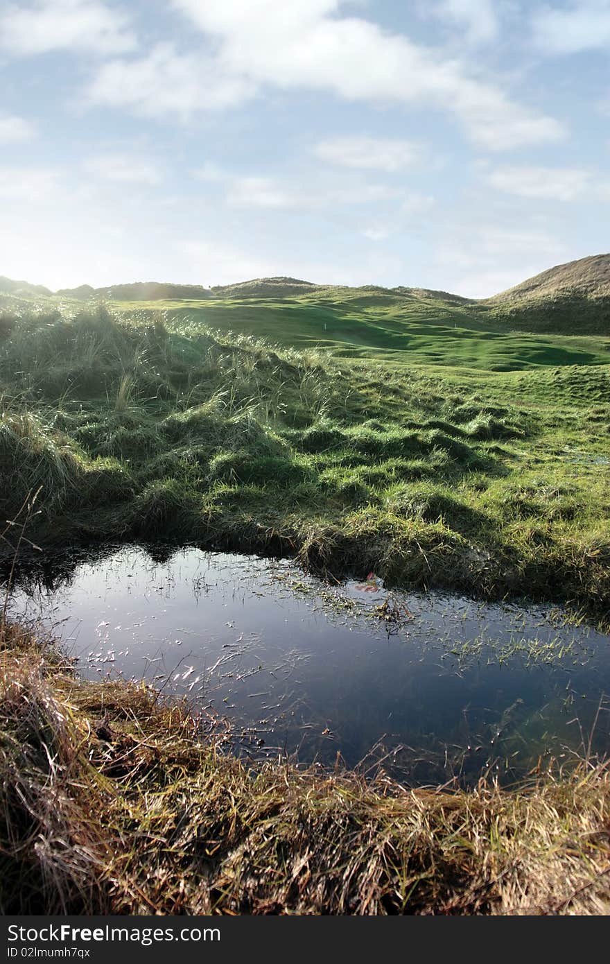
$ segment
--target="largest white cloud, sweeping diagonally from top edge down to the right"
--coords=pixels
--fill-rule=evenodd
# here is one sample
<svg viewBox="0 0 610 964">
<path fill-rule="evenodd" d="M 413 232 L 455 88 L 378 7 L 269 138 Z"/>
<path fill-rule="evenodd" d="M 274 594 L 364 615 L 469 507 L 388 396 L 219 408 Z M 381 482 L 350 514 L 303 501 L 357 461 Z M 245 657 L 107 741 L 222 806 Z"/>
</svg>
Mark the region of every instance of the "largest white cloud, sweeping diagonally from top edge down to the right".
<svg viewBox="0 0 610 964">
<path fill-rule="evenodd" d="M 361 17 L 339 16 L 339 0 L 172 0 L 215 54 L 163 44 L 145 58 L 115 60 L 93 80 L 93 103 L 146 117 L 237 106 L 267 85 L 330 91 L 350 101 L 445 109 L 490 150 L 555 141 L 553 118 L 521 106 L 437 49 Z M 365 68 L 363 66 L 365 65 Z"/>
</svg>

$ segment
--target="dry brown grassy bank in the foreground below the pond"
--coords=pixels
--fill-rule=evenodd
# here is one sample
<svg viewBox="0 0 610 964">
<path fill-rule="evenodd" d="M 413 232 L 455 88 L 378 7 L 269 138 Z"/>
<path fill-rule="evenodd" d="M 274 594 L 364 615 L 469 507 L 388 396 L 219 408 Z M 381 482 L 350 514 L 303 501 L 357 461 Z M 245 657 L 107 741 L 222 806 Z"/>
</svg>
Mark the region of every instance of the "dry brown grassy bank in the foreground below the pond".
<svg viewBox="0 0 610 964">
<path fill-rule="evenodd" d="M 515 790 L 245 766 L 184 707 L 0 630 L 0 911 L 604 914 L 610 780 Z"/>
</svg>

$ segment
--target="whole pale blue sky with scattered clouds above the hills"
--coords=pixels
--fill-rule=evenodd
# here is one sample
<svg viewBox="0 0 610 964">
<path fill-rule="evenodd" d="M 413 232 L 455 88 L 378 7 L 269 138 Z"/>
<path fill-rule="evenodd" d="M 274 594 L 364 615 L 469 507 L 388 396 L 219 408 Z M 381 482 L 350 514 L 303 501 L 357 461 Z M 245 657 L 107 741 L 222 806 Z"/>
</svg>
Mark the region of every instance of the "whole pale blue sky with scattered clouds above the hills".
<svg viewBox="0 0 610 964">
<path fill-rule="evenodd" d="M 0 275 L 486 297 L 610 248 L 610 0 L 0 0 Z"/>
</svg>

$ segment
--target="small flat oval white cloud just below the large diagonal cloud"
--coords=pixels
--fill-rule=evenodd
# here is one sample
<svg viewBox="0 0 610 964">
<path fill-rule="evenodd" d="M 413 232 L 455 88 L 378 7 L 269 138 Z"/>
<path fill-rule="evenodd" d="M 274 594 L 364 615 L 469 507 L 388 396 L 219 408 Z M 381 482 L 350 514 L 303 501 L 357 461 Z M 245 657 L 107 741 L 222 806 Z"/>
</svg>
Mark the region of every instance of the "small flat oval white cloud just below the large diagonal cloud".
<svg viewBox="0 0 610 964">
<path fill-rule="evenodd" d="M 332 137 L 313 148 L 320 160 L 346 168 L 362 168 L 395 174 L 421 160 L 421 147 L 414 141 L 385 137 Z"/>
</svg>

